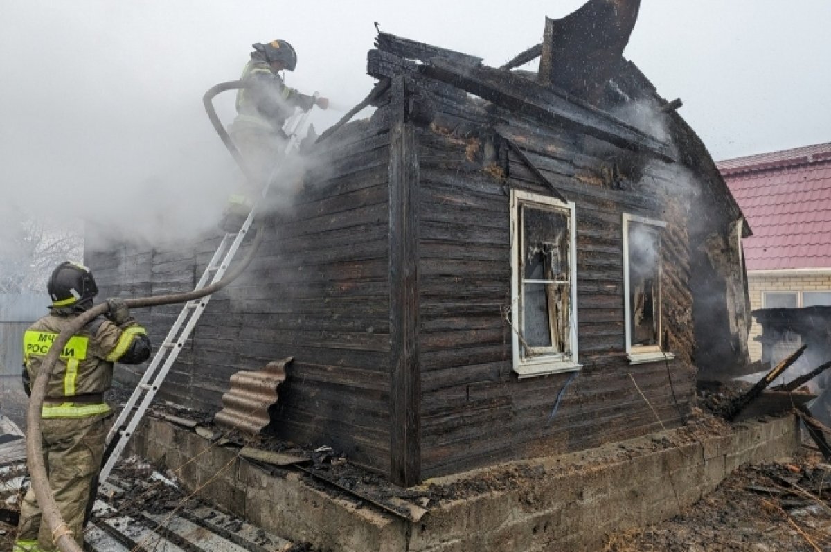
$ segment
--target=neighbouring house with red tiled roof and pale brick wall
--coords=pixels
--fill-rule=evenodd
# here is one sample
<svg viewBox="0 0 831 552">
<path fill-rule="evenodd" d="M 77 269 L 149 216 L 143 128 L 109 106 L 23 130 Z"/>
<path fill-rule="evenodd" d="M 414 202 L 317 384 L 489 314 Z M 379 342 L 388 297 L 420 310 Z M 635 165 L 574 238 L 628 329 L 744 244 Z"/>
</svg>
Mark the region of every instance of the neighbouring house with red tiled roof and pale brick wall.
<svg viewBox="0 0 831 552">
<path fill-rule="evenodd" d="M 745 239 L 750 306 L 831 305 L 831 143 L 720 161 L 753 235 Z M 762 358 L 758 320 L 750 358 Z"/>
</svg>

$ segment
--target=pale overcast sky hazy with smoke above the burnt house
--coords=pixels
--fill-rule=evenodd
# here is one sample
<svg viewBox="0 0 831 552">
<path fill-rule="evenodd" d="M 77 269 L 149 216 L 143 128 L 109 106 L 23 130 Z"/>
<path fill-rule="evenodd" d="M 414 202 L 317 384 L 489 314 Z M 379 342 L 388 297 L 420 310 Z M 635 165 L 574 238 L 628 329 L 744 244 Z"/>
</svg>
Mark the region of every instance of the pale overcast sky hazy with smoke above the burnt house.
<svg viewBox="0 0 831 552">
<path fill-rule="evenodd" d="M 374 22 L 499 66 L 582 3 L 0 0 L 0 220 L 94 215 L 148 237 L 206 224 L 235 176 L 202 95 L 238 78 L 253 42 L 292 42 L 288 85 L 348 109 L 374 82 Z M 720 160 L 831 141 L 829 22 L 829 0 L 644 0 L 625 55 Z M 317 131 L 340 115 L 315 114 Z"/>
</svg>

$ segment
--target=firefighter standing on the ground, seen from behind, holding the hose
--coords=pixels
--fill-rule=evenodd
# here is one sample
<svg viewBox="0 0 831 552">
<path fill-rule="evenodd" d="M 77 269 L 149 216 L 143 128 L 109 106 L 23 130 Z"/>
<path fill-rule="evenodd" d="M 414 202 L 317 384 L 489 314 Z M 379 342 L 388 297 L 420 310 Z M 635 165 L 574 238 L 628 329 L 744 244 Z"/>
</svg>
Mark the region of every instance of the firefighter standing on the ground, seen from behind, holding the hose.
<svg viewBox="0 0 831 552">
<path fill-rule="evenodd" d="M 92 307 L 98 293 L 92 273 L 81 264 L 62 263 L 47 283 L 49 314 L 23 335 L 23 387 L 29 394 L 52 341 L 79 314 Z M 130 315 L 123 300 L 107 299 L 106 317 L 99 316 L 70 338 L 47 386 L 41 411 L 42 447 L 49 486 L 58 510 L 79 546 L 84 521 L 103 462 L 112 411 L 104 393 L 112 383 L 113 364 L 138 364 L 150 357 L 150 339 Z M 52 532 L 41 523 L 34 490 L 20 508 L 13 552 L 56 550 Z"/>
</svg>

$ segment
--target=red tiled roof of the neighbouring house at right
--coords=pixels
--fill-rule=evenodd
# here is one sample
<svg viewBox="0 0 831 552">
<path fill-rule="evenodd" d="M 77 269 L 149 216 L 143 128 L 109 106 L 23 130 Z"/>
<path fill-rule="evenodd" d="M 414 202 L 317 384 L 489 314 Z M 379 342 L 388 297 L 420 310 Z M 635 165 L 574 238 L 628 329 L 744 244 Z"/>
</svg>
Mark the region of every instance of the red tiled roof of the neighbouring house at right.
<svg viewBox="0 0 831 552">
<path fill-rule="evenodd" d="M 753 229 L 748 270 L 831 268 L 831 143 L 716 165 Z"/>
</svg>

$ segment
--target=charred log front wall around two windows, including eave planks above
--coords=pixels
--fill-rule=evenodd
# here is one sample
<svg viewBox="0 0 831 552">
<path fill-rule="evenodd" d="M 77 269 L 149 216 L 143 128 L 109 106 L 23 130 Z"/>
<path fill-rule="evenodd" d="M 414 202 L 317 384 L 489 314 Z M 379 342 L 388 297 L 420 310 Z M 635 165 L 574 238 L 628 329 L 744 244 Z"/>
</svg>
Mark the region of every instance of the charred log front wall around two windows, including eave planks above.
<svg viewBox="0 0 831 552">
<path fill-rule="evenodd" d="M 368 72 L 410 79 L 408 101 L 420 123 L 422 478 L 581 450 L 681 421 L 695 379 L 688 220 L 685 200 L 671 194 L 666 177 L 648 172 L 651 160 L 671 159 L 666 145 L 583 101 L 459 52 L 385 33 L 376 44 Z M 583 370 L 574 375 L 520 380 L 513 372 L 506 317 L 511 187 L 559 193 L 577 205 Z M 624 213 L 667 222 L 662 338 L 676 353 L 669 362 L 632 365 L 626 356 Z"/>
</svg>

